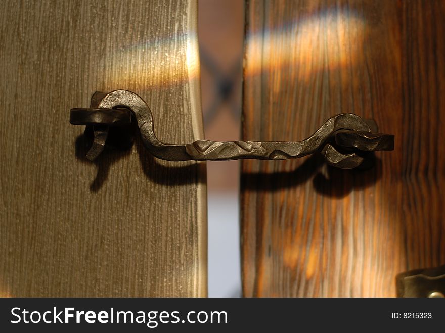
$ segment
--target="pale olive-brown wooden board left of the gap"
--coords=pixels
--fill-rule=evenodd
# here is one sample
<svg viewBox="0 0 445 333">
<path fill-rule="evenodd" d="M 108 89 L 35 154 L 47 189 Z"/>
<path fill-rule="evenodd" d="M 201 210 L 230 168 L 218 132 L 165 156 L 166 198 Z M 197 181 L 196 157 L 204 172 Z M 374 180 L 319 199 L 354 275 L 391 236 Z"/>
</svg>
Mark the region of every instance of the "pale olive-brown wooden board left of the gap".
<svg viewBox="0 0 445 333">
<path fill-rule="evenodd" d="M 9 1 L 0 12 L 0 294 L 206 296 L 205 164 L 140 141 L 87 163 L 69 110 L 128 89 L 159 138 L 203 138 L 195 1 Z"/>
</svg>

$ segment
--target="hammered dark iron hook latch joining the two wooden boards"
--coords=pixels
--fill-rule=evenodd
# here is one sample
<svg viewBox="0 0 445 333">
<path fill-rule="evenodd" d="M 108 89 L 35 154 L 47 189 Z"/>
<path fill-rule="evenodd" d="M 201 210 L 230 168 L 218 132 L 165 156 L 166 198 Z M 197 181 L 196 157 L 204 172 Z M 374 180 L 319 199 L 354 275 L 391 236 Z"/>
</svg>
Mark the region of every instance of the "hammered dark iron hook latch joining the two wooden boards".
<svg viewBox="0 0 445 333">
<path fill-rule="evenodd" d="M 138 94 L 128 90 L 96 92 L 91 108 L 71 109 L 70 123 L 93 129 L 93 145 L 87 158 L 94 160 L 104 150 L 108 129 L 130 124 L 131 115 L 136 118 L 145 148 L 168 161 L 284 160 L 320 151 L 328 164 L 351 169 L 359 166 L 369 152 L 394 149 L 394 135 L 377 133 L 373 120 L 351 113 L 328 119 L 313 135 L 299 142 L 198 140 L 190 144 L 164 144 L 155 135 L 150 108 Z"/>
</svg>

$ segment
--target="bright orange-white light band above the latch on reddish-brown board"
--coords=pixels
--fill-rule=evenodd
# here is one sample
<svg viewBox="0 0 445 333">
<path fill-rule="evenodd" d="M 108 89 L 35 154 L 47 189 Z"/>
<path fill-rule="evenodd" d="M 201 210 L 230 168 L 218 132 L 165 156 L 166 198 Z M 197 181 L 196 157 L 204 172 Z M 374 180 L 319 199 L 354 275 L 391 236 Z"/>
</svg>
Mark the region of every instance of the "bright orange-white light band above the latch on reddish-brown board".
<svg viewBox="0 0 445 333">
<path fill-rule="evenodd" d="M 350 12 L 327 10 L 299 19 L 298 24 L 255 31 L 247 38 L 245 75 L 284 69 L 292 71 L 295 79 L 308 80 L 315 72 L 353 66 L 362 60 L 364 22 Z"/>
</svg>

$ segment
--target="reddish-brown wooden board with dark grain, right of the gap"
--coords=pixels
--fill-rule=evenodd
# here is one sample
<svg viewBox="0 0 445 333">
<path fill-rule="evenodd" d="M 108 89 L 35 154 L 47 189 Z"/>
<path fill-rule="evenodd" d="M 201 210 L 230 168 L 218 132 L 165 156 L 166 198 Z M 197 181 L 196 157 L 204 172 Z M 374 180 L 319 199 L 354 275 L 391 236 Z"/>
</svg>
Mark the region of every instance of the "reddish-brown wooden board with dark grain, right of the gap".
<svg viewBox="0 0 445 333">
<path fill-rule="evenodd" d="M 445 2 L 249 1 L 243 139 L 300 140 L 341 112 L 395 150 L 366 171 L 245 160 L 243 294 L 392 297 L 445 263 Z"/>
</svg>

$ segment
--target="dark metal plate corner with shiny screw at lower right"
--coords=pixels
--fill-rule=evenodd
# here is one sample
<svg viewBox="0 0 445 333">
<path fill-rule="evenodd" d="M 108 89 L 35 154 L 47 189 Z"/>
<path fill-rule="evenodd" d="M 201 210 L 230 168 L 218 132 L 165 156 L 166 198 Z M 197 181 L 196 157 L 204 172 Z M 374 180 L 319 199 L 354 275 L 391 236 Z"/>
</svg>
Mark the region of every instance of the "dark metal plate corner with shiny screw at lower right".
<svg viewBox="0 0 445 333">
<path fill-rule="evenodd" d="M 397 297 L 445 297 L 445 265 L 416 269 L 396 276 Z"/>
</svg>

